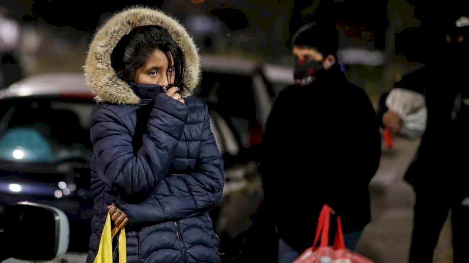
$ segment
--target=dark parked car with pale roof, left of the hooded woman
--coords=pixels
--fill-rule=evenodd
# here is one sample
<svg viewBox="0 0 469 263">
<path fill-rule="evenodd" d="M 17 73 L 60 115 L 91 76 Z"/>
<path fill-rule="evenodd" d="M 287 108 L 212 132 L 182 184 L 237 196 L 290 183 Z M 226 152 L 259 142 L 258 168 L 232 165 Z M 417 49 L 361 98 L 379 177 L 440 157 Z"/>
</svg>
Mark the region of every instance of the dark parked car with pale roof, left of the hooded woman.
<svg viewBox="0 0 469 263">
<path fill-rule="evenodd" d="M 71 251 L 87 251 L 91 234 L 94 104 L 79 74 L 33 76 L 0 91 L 0 204 L 34 201 L 64 211 Z"/>
</svg>

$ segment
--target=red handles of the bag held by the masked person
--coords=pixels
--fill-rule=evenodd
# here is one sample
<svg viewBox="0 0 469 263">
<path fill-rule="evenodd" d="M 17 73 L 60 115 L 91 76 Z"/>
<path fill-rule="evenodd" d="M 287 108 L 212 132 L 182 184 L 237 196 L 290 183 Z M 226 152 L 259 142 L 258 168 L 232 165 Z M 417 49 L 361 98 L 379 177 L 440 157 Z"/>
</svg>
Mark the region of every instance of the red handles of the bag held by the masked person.
<svg viewBox="0 0 469 263">
<path fill-rule="evenodd" d="M 329 245 L 329 227 L 330 227 L 330 214 L 331 207 L 328 205 L 324 205 L 319 215 L 318 219 L 318 227 L 316 229 L 316 236 L 314 238 L 313 243 L 313 250 L 316 250 L 317 244 L 319 241 L 319 236 L 321 236 L 321 243 L 320 246 L 328 246 Z M 336 235 L 334 238 L 333 244 L 334 250 L 338 249 L 345 249 L 345 241 L 343 239 L 343 232 L 342 232 L 342 223 L 341 217 L 337 216 L 337 230 Z"/>
</svg>

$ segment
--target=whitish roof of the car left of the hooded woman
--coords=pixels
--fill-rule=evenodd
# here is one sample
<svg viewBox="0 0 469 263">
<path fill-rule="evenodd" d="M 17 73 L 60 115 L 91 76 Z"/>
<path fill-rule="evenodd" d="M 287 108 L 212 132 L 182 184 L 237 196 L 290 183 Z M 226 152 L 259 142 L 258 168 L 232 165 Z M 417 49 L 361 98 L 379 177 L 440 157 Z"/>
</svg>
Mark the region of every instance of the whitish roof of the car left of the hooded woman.
<svg viewBox="0 0 469 263">
<path fill-rule="evenodd" d="M 81 95 L 92 97 L 82 73 L 56 73 L 24 78 L 0 90 L 0 99 L 41 95 Z"/>
</svg>

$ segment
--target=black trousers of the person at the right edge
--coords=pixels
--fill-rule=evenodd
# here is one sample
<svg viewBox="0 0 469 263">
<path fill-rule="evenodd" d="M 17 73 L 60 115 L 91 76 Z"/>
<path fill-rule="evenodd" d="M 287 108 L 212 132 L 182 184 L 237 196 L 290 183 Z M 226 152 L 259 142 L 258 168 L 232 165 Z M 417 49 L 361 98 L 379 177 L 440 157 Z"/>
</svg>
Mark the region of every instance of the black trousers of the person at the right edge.
<svg viewBox="0 0 469 263">
<path fill-rule="evenodd" d="M 437 193 L 438 190 L 415 189 L 414 228 L 409 251 L 409 262 L 432 262 L 433 251 L 438 242 L 438 237 L 451 210 L 454 263 L 467 263 L 469 206 L 463 205 L 462 202 L 469 194 L 465 196 L 451 193 L 447 195 Z"/>
</svg>

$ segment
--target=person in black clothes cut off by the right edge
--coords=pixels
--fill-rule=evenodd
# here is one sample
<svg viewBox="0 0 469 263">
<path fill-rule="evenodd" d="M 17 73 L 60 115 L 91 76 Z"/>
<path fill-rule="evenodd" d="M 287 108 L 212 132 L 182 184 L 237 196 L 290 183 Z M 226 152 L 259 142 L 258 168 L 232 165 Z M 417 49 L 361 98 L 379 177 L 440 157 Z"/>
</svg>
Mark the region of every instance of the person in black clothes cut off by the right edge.
<svg viewBox="0 0 469 263">
<path fill-rule="evenodd" d="M 409 258 L 411 263 L 432 262 L 451 211 L 454 262 L 467 262 L 469 176 L 464 165 L 469 158 L 469 91 L 465 78 L 469 19 L 455 18 L 449 25 L 443 23 L 442 28 L 435 26 L 431 34 L 436 39 L 426 39 L 425 67 L 395 84 L 424 94 L 428 112 L 426 131 L 404 178 L 416 196 Z M 383 122 L 385 126 L 394 125 L 385 119 Z"/>
</svg>

